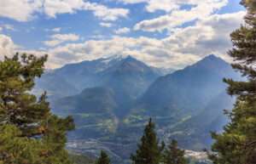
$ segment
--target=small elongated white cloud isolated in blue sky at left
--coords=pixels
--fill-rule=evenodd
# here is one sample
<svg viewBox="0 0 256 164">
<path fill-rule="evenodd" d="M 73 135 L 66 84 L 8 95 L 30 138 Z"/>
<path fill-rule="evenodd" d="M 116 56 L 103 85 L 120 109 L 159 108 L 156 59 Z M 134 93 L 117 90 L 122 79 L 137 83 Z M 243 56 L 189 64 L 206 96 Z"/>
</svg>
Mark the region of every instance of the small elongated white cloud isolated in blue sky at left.
<svg viewBox="0 0 256 164">
<path fill-rule="evenodd" d="M 44 44 L 50 47 L 55 47 L 56 45 L 60 44 L 61 42 L 66 41 L 77 41 L 79 40 L 79 36 L 69 33 L 69 34 L 55 34 L 53 36 L 50 36 L 52 40 L 50 41 L 44 41 Z"/>
</svg>

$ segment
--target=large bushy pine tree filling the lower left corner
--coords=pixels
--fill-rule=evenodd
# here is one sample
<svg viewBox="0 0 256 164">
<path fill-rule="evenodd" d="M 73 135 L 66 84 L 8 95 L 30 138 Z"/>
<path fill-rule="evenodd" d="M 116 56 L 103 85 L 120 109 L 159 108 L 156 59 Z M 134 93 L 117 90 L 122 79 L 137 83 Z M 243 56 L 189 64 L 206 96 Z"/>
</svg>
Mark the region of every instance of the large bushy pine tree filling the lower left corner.
<svg viewBox="0 0 256 164">
<path fill-rule="evenodd" d="M 0 163 L 72 163 L 64 147 L 73 117 L 52 115 L 46 93 L 30 93 L 46 60 L 15 54 L 0 61 Z"/>
</svg>

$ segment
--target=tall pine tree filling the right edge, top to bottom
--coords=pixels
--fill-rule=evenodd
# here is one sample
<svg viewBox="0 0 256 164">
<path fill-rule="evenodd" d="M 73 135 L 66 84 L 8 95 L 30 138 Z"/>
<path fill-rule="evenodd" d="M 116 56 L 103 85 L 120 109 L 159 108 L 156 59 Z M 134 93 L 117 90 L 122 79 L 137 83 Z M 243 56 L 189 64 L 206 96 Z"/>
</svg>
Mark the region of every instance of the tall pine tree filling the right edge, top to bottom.
<svg viewBox="0 0 256 164">
<path fill-rule="evenodd" d="M 232 67 L 247 77 L 246 82 L 224 79 L 229 84 L 227 92 L 236 96 L 231 111 L 225 110 L 230 122 L 224 133 L 212 133 L 212 151 L 207 152 L 213 163 L 253 164 L 256 163 L 256 1 L 242 0 L 247 8 L 245 25 L 230 34 L 233 48 L 228 52 L 236 60 Z"/>
</svg>

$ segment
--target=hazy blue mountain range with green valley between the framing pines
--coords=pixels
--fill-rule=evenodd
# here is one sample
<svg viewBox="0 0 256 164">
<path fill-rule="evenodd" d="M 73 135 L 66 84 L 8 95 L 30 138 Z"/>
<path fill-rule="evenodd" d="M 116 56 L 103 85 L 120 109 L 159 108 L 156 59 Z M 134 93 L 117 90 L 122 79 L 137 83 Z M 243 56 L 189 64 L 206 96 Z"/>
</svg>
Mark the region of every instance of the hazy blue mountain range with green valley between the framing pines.
<svg viewBox="0 0 256 164">
<path fill-rule="evenodd" d="M 237 80 L 240 74 L 215 55 L 163 72 L 117 55 L 64 65 L 38 79 L 36 88 L 51 93 L 53 112 L 74 117 L 77 129 L 69 138 L 77 145 L 73 151 L 94 155 L 104 149 L 114 163 L 124 163 L 149 117 L 167 143 L 177 139 L 187 150 L 209 147 L 209 131 L 222 130 L 227 122 L 223 110 L 234 102 L 222 79 Z M 50 81 L 52 86 L 46 85 Z"/>
</svg>

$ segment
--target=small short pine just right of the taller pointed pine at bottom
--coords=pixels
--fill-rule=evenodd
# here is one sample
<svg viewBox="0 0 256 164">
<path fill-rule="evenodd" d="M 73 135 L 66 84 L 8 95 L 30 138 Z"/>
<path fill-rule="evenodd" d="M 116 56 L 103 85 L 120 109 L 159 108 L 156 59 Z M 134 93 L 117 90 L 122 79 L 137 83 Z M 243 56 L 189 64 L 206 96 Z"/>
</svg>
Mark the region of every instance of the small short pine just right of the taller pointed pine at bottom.
<svg viewBox="0 0 256 164">
<path fill-rule="evenodd" d="M 177 140 L 172 139 L 172 143 L 168 145 L 168 149 L 164 150 L 164 163 L 166 164 L 186 164 L 184 157 L 185 150 L 177 147 Z"/>
</svg>

